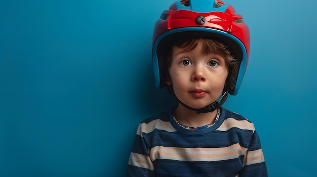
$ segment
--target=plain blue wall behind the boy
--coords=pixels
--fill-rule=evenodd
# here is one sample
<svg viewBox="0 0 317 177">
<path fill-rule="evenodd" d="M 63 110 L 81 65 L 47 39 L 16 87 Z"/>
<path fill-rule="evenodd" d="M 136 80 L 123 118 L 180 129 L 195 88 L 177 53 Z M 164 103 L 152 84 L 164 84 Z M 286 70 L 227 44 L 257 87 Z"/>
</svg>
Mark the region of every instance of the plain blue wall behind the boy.
<svg viewBox="0 0 317 177">
<path fill-rule="evenodd" d="M 173 2 L 1 1 L 0 176 L 124 176 L 138 123 L 175 103 L 151 68 Z M 255 123 L 269 176 L 317 176 L 316 1 L 226 2 L 251 54 L 225 106 Z"/>
</svg>

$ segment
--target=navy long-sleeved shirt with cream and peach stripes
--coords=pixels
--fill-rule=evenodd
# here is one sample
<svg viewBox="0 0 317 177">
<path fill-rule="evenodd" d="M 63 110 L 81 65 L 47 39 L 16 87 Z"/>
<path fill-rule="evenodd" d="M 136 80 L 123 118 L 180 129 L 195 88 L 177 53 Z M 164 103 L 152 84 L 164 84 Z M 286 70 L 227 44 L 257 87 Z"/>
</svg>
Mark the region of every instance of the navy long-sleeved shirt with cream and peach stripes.
<svg viewBox="0 0 317 177">
<path fill-rule="evenodd" d="M 220 107 L 216 124 L 188 130 L 173 109 L 138 127 L 126 176 L 267 176 L 253 123 Z"/>
</svg>

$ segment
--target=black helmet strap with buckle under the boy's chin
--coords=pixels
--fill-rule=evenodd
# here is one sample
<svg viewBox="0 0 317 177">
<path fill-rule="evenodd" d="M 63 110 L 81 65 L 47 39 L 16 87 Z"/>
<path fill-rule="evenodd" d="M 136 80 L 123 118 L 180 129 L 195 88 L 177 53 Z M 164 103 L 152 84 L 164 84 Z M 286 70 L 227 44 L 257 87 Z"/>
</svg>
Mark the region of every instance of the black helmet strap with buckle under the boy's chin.
<svg viewBox="0 0 317 177">
<path fill-rule="evenodd" d="M 229 92 L 229 91 L 226 90 L 226 91 L 224 91 L 224 92 L 222 93 L 222 96 L 221 96 L 219 102 L 218 102 L 218 101 L 215 101 L 215 102 L 213 102 L 213 103 L 211 103 L 211 104 L 209 104 L 209 105 L 207 105 L 207 106 L 205 106 L 205 107 L 203 107 L 203 108 L 200 108 L 200 109 L 196 109 L 196 108 L 187 106 L 186 104 L 184 104 L 183 102 L 181 102 L 181 101 L 176 97 L 176 95 L 175 95 L 175 97 L 177 98 L 178 102 L 179 102 L 182 106 L 186 107 L 187 109 L 194 110 L 194 111 L 196 111 L 197 113 L 208 113 L 208 112 L 213 112 L 213 111 L 215 111 L 216 109 L 218 109 L 218 108 L 226 101 L 226 99 L 227 99 L 227 97 L 228 97 L 228 92 Z"/>
</svg>

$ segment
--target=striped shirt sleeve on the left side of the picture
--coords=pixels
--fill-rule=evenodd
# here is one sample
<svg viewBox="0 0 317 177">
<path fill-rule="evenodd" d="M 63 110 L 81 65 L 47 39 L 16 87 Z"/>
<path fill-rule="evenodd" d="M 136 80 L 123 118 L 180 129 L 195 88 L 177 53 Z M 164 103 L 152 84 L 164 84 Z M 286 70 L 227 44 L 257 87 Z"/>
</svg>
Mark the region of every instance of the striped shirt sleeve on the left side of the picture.
<svg viewBox="0 0 317 177">
<path fill-rule="evenodd" d="M 135 135 L 126 176 L 155 176 L 154 166 L 149 157 L 149 148 L 141 133 L 141 124 L 139 125 L 138 131 Z"/>
</svg>

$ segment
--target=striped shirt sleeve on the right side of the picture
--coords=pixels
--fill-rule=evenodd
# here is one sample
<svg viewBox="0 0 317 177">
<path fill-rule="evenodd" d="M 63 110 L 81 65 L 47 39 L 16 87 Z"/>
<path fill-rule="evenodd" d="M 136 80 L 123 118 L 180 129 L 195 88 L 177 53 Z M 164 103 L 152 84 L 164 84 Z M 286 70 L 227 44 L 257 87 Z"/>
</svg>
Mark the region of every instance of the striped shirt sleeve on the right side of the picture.
<svg viewBox="0 0 317 177">
<path fill-rule="evenodd" d="M 267 169 L 259 136 L 256 131 L 251 136 L 250 144 L 245 154 L 244 168 L 239 177 L 267 177 Z"/>
</svg>

